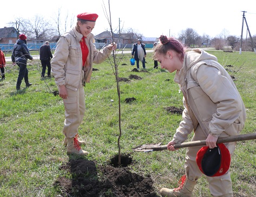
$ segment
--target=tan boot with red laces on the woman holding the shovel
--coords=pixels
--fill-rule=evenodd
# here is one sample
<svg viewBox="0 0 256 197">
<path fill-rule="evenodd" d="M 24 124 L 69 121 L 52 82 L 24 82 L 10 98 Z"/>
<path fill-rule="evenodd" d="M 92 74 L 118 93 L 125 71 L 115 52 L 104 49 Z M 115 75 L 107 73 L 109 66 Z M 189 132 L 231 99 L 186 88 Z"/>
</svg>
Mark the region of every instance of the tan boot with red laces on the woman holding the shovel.
<svg viewBox="0 0 256 197">
<path fill-rule="evenodd" d="M 180 180 L 180 186 L 174 189 L 162 188 L 160 193 L 162 196 L 183 196 L 183 197 L 191 197 L 193 188 L 198 181 L 189 180 L 186 175 L 183 175 Z"/>
</svg>

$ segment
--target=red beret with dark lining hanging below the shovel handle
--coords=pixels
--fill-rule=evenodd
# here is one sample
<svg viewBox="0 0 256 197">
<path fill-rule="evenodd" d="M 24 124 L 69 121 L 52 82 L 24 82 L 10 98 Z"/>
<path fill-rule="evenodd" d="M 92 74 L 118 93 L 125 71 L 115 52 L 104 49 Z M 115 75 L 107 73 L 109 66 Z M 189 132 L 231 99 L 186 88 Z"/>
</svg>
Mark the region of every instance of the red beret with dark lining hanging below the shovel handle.
<svg viewBox="0 0 256 197">
<path fill-rule="evenodd" d="M 207 176 L 224 175 L 230 166 L 231 157 L 224 144 L 217 144 L 215 148 L 202 147 L 196 154 L 196 164 Z"/>
</svg>

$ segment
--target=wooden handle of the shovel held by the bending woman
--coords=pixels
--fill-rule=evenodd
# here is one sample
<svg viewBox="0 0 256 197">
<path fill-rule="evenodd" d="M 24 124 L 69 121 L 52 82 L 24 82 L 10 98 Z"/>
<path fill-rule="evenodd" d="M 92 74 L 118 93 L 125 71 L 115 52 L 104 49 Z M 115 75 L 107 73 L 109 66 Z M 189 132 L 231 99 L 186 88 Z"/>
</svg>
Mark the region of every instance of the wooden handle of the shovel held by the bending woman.
<svg viewBox="0 0 256 197">
<path fill-rule="evenodd" d="M 228 136 L 228 137 L 224 137 L 224 138 L 219 138 L 216 143 L 220 144 L 220 143 L 226 143 L 226 142 L 232 142 L 232 141 L 244 141 L 244 140 L 253 140 L 253 139 L 256 139 L 256 133 L 233 135 L 233 136 Z M 174 148 L 204 146 L 204 145 L 206 145 L 205 141 L 206 140 L 189 141 L 189 142 L 177 143 L 177 144 L 174 144 L 173 146 L 174 146 Z M 155 146 L 155 147 L 152 147 L 152 150 L 153 151 L 167 150 L 167 145 Z"/>
</svg>

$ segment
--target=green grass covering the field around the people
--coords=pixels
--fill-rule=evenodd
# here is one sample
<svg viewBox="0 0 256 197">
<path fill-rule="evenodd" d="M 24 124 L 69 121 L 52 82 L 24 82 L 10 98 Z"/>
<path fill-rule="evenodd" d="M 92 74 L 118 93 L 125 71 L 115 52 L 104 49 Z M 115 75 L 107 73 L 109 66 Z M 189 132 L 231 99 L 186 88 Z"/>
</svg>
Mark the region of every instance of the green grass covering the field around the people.
<svg viewBox="0 0 256 197">
<path fill-rule="evenodd" d="M 223 65 L 233 71 L 235 84 L 247 109 L 246 125 L 242 133 L 255 131 L 255 61 L 252 52 L 225 53 L 209 51 Z M 174 73 L 153 70 L 152 53 L 147 54 L 147 72 L 130 72 L 130 55 L 119 63 L 119 77 L 130 74 L 142 77 L 130 83 L 120 82 L 121 90 L 121 152 L 132 154 L 131 171 L 150 175 L 155 191 L 161 187 L 177 187 L 184 173 L 186 148 L 175 152 L 133 152 L 132 148 L 149 143 L 167 144 L 181 121 L 164 107 L 182 107 L 182 93 L 174 83 Z M 69 161 L 62 145 L 64 107 L 62 99 L 54 96 L 57 90 L 54 78 L 40 78 L 39 61 L 28 61 L 29 80 L 33 85 L 21 92 L 15 90 L 18 66 L 6 66 L 6 80 L 0 81 L 0 196 L 57 196 L 61 188 L 54 186 L 59 176 L 70 177 L 58 167 Z M 32 64 L 31 64 L 32 63 Z M 121 65 L 127 64 L 127 65 Z M 111 65 L 104 62 L 94 65 L 91 83 L 86 84 L 86 114 L 79 129 L 86 140 L 84 147 L 88 160 L 106 165 L 118 153 L 119 135 L 118 97 Z M 238 71 L 237 73 L 235 73 Z M 170 79 L 170 80 L 167 80 Z M 132 104 L 124 103 L 134 97 Z M 110 100 L 113 99 L 114 102 Z M 189 139 L 191 136 L 189 136 Z M 231 176 L 234 196 L 256 196 L 255 141 L 238 142 L 232 158 Z M 210 196 L 205 176 L 195 186 L 193 196 Z"/>
</svg>

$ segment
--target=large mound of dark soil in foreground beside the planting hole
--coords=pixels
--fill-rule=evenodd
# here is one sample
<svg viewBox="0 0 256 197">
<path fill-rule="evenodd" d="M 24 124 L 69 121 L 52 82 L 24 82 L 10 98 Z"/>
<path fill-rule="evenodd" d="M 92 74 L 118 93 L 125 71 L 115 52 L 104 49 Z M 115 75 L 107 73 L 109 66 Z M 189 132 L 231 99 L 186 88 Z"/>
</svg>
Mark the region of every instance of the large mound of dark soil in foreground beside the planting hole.
<svg viewBox="0 0 256 197">
<path fill-rule="evenodd" d="M 129 168 L 99 166 L 86 159 L 70 160 L 60 167 L 72 178 L 59 177 L 55 185 L 61 187 L 62 196 L 81 197 L 157 197 L 153 180 L 129 171 Z"/>
</svg>

